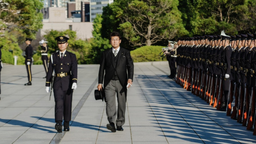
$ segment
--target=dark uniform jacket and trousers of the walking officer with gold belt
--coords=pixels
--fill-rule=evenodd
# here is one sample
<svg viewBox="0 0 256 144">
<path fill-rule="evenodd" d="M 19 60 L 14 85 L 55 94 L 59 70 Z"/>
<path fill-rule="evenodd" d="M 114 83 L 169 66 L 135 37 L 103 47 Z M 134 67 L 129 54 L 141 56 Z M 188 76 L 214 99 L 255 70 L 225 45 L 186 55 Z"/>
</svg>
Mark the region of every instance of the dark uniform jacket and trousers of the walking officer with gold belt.
<svg viewBox="0 0 256 144">
<path fill-rule="evenodd" d="M 68 51 L 65 52 L 63 59 L 59 58 L 59 52 L 52 53 L 53 63 L 50 59 L 46 86 L 50 86 L 53 69 L 55 79 L 53 82 L 53 93 L 55 99 L 55 121 L 70 121 L 72 109 L 72 83 L 77 83 L 77 60 L 76 55 Z M 70 73 L 71 72 L 71 73 Z M 67 76 L 58 76 L 66 73 Z"/>
</svg>

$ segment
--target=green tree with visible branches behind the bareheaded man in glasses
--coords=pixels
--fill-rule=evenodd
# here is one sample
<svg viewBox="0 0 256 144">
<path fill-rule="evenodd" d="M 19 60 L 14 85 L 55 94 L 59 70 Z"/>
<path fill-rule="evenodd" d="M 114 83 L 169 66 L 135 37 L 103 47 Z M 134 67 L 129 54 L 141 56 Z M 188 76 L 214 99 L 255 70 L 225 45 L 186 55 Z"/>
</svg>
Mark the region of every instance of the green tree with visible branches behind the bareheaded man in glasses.
<svg viewBox="0 0 256 144">
<path fill-rule="evenodd" d="M 177 6 L 178 0 L 116 0 L 110 8 L 123 37 L 136 47 L 186 34 Z"/>
</svg>

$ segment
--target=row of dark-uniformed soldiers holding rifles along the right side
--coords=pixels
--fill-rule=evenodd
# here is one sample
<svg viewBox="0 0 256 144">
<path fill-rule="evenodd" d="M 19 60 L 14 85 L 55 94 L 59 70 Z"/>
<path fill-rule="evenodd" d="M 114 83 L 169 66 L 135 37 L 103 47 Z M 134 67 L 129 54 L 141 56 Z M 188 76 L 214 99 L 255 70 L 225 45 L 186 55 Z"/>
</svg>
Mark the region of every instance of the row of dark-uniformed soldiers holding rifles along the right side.
<svg viewBox="0 0 256 144">
<path fill-rule="evenodd" d="M 256 33 L 178 39 L 175 81 L 256 135 Z"/>
</svg>

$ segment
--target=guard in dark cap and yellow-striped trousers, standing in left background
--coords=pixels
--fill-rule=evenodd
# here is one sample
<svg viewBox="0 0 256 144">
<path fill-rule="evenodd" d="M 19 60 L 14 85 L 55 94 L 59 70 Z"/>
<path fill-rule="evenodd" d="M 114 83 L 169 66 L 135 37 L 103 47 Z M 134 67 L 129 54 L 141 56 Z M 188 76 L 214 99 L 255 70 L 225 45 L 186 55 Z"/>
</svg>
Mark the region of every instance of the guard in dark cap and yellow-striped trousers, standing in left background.
<svg viewBox="0 0 256 144">
<path fill-rule="evenodd" d="M 33 56 L 33 48 L 31 46 L 31 38 L 26 38 L 26 44 L 27 47 L 25 49 L 25 65 L 27 69 L 27 79 L 29 80 L 28 83 L 25 83 L 24 85 L 32 85 L 32 74 L 31 74 L 31 64 L 32 64 L 32 56 Z"/>
</svg>

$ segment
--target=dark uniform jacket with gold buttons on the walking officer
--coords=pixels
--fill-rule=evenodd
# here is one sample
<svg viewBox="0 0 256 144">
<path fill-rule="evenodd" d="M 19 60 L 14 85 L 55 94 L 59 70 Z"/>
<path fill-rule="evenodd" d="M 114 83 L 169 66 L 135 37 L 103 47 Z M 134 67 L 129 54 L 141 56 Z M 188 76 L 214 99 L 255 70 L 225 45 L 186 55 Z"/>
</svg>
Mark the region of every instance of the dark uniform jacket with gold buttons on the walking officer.
<svg viewBox="0 0 256 144">
<path fill-rule="evenodd" d="M 53 62 L 52 62 L 53 59 Z M 52 59 L 48 66 L 48 72 L 46 76 L 46 86 L 50 86 L 53 69 L 55 73 L 69 73 L 72 75 L 65 77 L 55 77 L 53 82 L 53 89 L 58 89 L 61 86 L 62 91 L 71 89 L 72 83 L 77 83 L 77 60 L 74 53 L 66 51 L 63 59 L 59 58 L 59 52 L 52 53 Z"/>
</svg>

